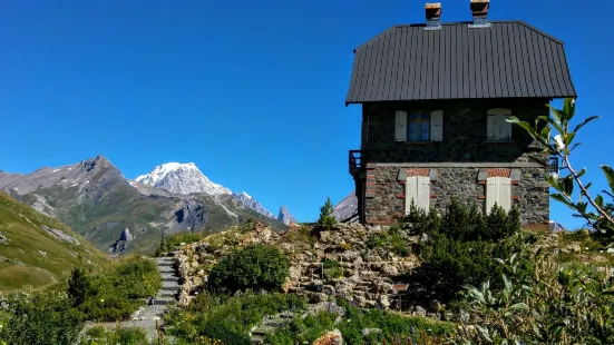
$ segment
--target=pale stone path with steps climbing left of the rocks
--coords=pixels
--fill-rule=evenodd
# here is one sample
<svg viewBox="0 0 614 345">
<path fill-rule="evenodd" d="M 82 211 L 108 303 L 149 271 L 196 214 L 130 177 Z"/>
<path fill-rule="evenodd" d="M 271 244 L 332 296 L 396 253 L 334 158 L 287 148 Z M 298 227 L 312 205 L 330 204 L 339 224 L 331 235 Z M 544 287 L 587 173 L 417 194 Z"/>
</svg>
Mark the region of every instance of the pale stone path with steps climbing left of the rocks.
<svg viewBox="0 0 614 345">
<path fill-rule="evenodd" d="M 135 328 L 139 327 L 145 331 L 149 341 L 157 339 L 156 322 L 158 326 L 164 326 L 163 315 L 166 313 L 168 304 L 176 302 L 179 290 L 179 276 L 173 268 L 174 257 L 156 257 L 153 258 L 158 266 L 162 275 L 162 289 L 158 294 L 147 300 L 147 304 L 142 306 L 133 314 L 130 321 L 119 323 L 88 323 L 86 328 L 94 326 L 103 326 L 106 328 Z"/>
</svg>

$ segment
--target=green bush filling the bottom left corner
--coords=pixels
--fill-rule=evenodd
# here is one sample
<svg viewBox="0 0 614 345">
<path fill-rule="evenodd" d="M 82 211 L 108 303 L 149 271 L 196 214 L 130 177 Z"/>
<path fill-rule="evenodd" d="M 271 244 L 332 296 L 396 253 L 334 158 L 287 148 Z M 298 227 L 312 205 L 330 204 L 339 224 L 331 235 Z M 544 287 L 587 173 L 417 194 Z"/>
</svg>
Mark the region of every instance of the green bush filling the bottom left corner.
<svg viewBox="0 0 614 345">
<path fill-rule="evenodd" d="M 81 315 L 66 294 L 10 295 L 0 322 L 0 344 L 72 345 L 84 327 Z"/>
</svg>

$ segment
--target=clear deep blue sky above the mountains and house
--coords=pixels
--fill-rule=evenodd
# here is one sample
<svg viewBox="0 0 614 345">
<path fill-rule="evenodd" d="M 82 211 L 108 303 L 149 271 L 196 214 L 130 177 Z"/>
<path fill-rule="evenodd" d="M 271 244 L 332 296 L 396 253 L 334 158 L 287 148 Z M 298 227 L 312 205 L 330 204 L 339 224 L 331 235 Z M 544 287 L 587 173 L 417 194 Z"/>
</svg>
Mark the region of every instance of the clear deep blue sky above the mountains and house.
<svg viewBox="0 0 614 345">
<path fill-rule="evenodd" d="M 441 1 L 442 21 L 469 0 Z M 313 220 L 353 188 L 345 107 L 352 49 L 392 24 L 423 22 L 425 1 L 7 1 L 0 11 L 0 169 L 30 172 L 105 155 L 128 178 L 194 161 L 274 213 Z M 612 1 L 496 1 L 565 42 L 585 129 L 576 165 L 605 184 L 614 164 Z M 587 6 L 587 4 L 586 4 Z M 553 218 L 578 226 L 553 203 Z"/>
</svg>

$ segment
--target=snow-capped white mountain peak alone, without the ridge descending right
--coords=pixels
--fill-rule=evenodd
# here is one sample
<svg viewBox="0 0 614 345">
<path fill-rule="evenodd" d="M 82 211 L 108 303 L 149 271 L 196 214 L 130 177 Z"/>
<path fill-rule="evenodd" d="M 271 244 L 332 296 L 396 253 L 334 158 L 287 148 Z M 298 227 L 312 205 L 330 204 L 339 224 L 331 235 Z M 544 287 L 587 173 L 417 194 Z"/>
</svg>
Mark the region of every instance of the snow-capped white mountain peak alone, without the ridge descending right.
<svg viewBox="0 0 614 345">
<path fill-rule="evenodd" d="M 156 166 L 149 174 L 138 176 L 135 180 L 175 194 L 232 194 L 231 189 L 211 181 L 194 162 L 163 164 Z"/>
</svg>

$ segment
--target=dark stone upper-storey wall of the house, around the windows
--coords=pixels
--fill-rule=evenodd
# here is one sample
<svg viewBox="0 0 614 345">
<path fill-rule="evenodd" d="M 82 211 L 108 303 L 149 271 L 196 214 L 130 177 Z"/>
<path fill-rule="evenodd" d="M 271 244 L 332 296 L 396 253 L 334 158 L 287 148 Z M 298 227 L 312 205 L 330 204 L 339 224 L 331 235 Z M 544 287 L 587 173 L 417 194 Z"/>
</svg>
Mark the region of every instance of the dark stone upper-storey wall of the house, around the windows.
<svg viewBox="0 0 614 345">
<path fill-rule="evenodd" d="M 519 162 L 543 160 L 542 152 L 530 151 L 533 139 L 513 126 L 511 142 L 488 142 L 487 110 L 506 108 L 522 120 L 533 124 L 537 116 L 548 116 L 547 100 L 475 101 L 366 105 L 368 141 L 371 162 Z M 440 142 L 394 141 L 394 111 L 444 109 L 444 140 Z"/>
</svg>

